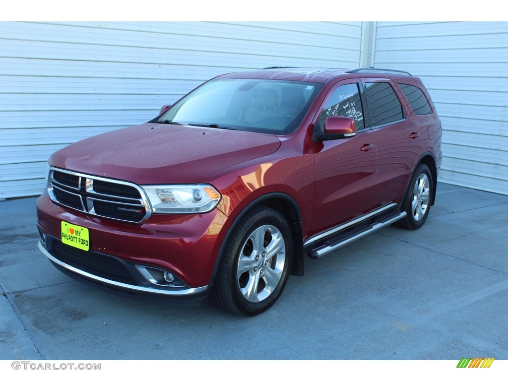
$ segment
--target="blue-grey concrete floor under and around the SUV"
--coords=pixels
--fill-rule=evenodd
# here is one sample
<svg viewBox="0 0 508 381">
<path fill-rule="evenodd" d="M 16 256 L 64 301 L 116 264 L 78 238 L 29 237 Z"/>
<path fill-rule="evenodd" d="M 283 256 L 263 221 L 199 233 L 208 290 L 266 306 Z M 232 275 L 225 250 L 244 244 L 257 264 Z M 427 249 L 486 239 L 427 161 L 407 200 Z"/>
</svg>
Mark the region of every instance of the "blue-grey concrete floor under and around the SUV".
<svg viewBox="0 0 508 381">
<path fill-rule="evenodd" d="M 508 359 L 508 196 L 438 184 L 418 231 L 306 259 L 267 312 L 131 301 L 37 248 L 35 198 L 0 202 L 0 359 Z"/>
</svg>

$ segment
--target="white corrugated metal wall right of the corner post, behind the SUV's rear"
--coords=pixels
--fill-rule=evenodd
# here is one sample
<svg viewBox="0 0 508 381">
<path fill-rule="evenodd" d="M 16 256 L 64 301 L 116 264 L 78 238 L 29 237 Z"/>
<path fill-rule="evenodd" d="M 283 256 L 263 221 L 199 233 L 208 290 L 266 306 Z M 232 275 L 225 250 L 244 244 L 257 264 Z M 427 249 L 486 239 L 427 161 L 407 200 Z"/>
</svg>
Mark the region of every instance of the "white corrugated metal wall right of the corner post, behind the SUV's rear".
<svg viewBox="0 0 508 381">
<path fill-rule="evenodd" d="M 508 194 L 508 23 L 377 22 L 374 66 L 427 86 L 443 128 L 440 181 Z"/>
</svg>

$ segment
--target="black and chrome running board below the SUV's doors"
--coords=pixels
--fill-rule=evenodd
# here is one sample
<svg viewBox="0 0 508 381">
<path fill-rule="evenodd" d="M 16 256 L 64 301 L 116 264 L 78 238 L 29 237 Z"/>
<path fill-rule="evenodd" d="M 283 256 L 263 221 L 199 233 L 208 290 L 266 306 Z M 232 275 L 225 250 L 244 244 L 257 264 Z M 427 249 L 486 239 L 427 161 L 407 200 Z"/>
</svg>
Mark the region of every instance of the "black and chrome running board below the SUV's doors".
<svg viewBox="0 0 508 381">
<path fill-rule="evenodd" d="M 333 250 L 337 250 L 342 246 L 347 245 L 348 243 L 356 241 L 357 239 L 363 238 L 366 235 L 375 232 L 376 230 L 379 230 L 381 228 L 384 228 L 385 226 L 393 224 L 395 221 L 404 218 L 406 214 L 407 214 L 406 212 L 399 212 L 395 215 L 392 214 L 385 219 L 375 221 L 372 225 L 364 226 L 352 232 L 344 233 L 341 236 L 336 237 L 335 239 L 326 241 L 325 245 L 310 250 L 309 252 L 307 252 L 307 255 L 311 259 L 321 258 L 327 255 L 329 252 L 332 252 Z"/>
</svg>

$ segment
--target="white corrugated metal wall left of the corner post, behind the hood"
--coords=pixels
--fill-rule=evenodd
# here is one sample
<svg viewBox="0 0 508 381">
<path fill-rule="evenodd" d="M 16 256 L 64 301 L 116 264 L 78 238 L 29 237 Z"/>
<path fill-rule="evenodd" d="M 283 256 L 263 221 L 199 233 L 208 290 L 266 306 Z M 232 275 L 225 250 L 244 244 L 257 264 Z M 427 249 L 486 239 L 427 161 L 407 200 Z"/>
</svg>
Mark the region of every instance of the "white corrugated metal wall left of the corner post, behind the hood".
<svg viewBox="0 0 508 381">
<path fill-rule="evenodd" d="M 48 156 L 143 123 L 203 81 L 358 67 L 361 23 L 0 23 L 0 199 L 38 195 Z"/>
</svg>

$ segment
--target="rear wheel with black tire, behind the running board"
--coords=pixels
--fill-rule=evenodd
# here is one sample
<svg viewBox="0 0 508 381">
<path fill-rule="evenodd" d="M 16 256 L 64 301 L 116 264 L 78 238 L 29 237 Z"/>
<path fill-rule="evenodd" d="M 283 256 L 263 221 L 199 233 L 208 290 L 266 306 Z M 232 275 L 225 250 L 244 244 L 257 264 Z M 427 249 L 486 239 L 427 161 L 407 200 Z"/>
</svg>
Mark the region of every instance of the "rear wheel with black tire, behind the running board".
<svg viewBox="0 0 508 381">
<path fill-rule="evenodd" d="M 402 201 L 401 210 L 407 215 L 395 225 L 409 230 L 420 229 L 429 215 L 434 182 L 429 167 L 420 164 L 413 175 Z"/>
</svg>

